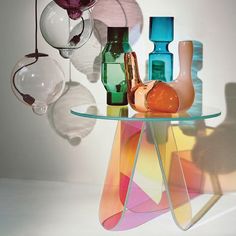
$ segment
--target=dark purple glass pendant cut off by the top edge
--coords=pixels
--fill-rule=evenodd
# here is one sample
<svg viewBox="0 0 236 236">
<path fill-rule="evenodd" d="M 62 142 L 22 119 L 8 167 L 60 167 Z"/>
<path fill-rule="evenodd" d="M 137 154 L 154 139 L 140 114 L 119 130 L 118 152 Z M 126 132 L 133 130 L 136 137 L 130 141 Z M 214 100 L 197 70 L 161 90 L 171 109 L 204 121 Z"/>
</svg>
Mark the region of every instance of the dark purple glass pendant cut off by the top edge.
<svg viewBox="0 0 236 236">
<path fill-rule="evenodd" d="M 54 0 L 60 7 L 67 10 L 69 17 L 77 20 L 86 11 L 94 6 L 97 0 Z"/>
</svg>

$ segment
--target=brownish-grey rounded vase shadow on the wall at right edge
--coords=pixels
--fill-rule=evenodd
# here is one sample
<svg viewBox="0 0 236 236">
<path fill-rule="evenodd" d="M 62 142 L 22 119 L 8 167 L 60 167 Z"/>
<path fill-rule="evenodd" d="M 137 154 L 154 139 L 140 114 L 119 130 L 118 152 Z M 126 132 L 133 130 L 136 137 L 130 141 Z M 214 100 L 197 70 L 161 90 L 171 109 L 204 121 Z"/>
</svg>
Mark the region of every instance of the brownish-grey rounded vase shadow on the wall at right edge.
<svg viewBox="0 0 236 236">
<path fill-rule="evenodd" d="M 225 120 L 210 135 L 201 128 L 192 150 L 195 165 L 210 177 L 217 178 L 222 192 L 236 190 L 236 83 L 225 86 Z"/>
</svg>

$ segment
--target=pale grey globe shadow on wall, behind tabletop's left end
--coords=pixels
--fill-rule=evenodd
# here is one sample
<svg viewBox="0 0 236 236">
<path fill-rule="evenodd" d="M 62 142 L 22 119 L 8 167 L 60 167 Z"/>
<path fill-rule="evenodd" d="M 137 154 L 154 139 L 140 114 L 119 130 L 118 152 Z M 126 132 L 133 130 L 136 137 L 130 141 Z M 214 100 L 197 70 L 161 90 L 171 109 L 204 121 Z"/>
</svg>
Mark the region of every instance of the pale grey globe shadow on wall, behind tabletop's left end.
<svg viewBox="0 0 236 236">
<path fill-rule="evenodd" d="M 48 120 L 58 135 L 69 141 L 72 146 L 79 145 L 96 124 L 95 119 L 85 119 L 70 113 L 71 107 L 95 104 L 93 95 L 78 82 L 67 82 L 62 97 L 48 110 Z M 90 113 L 96 114 L 96 107 Z"/>
</svg>

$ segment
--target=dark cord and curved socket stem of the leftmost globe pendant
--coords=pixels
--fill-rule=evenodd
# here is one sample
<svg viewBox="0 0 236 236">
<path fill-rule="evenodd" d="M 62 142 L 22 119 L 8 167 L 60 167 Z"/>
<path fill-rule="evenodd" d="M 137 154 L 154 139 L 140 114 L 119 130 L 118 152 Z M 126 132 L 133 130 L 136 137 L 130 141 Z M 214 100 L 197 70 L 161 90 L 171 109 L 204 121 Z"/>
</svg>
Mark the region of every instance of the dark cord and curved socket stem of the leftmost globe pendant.
<svg viewBox="0 0 236 236">
<path fill-rule="evenodd" d="M 35 98 L 30 96 L 29 94 L 22 93 L 16 86 L 15 78 L 16 78 L 16 74 L 18 72 L 20 72 L 23 68 L 26 68 L 28 66 L 35 64 L 39 59 L 39 52 L 38 52 L 38 0 L 35 0 L 35 51 L 34 51 L 34 53 L 27 55 L 26 57 L 28 57 L 28 58 L 34 57 L 35 60 L 33 62 L 17 69 L 15 71 L 15 73 L 13 74 L 12 80 L 13 80 L 14 89 L 22 96 L 24 102 L 26 102 L 27 104 L 29 104 L 31 106 L 35 102 Z"/>
</svg>

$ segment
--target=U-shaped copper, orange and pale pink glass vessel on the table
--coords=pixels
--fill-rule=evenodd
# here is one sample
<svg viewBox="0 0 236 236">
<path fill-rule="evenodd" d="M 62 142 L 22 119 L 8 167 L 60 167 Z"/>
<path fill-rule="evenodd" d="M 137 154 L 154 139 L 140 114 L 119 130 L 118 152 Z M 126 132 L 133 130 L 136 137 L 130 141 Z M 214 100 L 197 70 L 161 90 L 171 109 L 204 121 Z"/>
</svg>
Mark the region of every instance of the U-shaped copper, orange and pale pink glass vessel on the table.
<svg viewBox="0 0 236 236">
<path fill-rule="evenodd" d="M 128 101 L 138 112 L 176 113 L 187 110 L 194 100 L 191 78 L 193 56 L 192 41 L 179 42 L 180 72 L 171 83 L 149 81 L 143 83 L 139 76 L 135 52 L 125 54 Z"/>
</svg>

